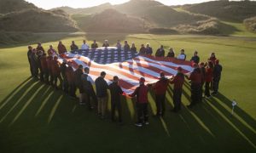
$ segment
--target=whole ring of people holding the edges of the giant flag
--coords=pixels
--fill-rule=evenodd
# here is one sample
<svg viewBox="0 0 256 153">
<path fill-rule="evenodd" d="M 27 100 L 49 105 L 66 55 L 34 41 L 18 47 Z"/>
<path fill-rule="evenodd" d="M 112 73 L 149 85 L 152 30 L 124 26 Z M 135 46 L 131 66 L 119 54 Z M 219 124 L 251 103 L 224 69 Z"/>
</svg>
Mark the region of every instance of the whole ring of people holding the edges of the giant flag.
<svg viewBox="0 0 256 153">
<path fill-rule="evenodd" d="M 103 43 L 102 47 L 109 47 L 108 40 Z M 137 52 L 135 44 L 132 43 L 130 48 L 127 41 L 125 41 L 123 47 L 120 41 L 118 41 L 116 47 Z M 89 48 L 98 48 L 96 41 L 89 46 L 84 40 L 81 49 Z M 76 50 L 79 49 L 79 47 L 73 41 L 70 49 Z M 90 77 L 89 67 L 84 68 L 83 65 L 79 65 L 78 69 L 75 70 L 72 65 L 67 62 L 67 59 L 63 59 L 61 64 L 58 62 L 59 54 L 64 54 L 66 52 L 67 48 L 61 41 L 58 44 L 58 52 L 52 45 L 49 46 L 47 51 L 48 55 L 45 53 L 41 43 L 38 43 L 37 48 L 28 46 L 27 58 L 30 64 L 32 77 L 49 84 L 56 89 L 62 89 L 74 99 L 79 99 L 80 105 L 87 105 L 90 111 L 96 108 L 97 115 L 102 119 L 106 118 L 109 89 L 111 94 L 111 119 L 113 122 L 116 121 L 115 111 L 117 109 L 119 114 L 118 122 L 122 123 L 120 96 L 125 94 L 119 86 L 119 77 L 113 77 L 113 82 L 108 85 L 104 79 L 107 74 L 105 71 L 102 71 L 100 76 L 94 81 Z M 180 52 L 181 53 L 177 55 L 177 59 L 185 60 L 186 54 L 184 54 L 184 49 Z M 153 54 L 153 49 L 150 47 L 149 43 L 147 43 L 146 47 L 142 44 L 139 49 L 139 54 Z M 165 57 L 165 50 L 162 45 L 157 49 L 155 56 Z M 175 57 L 172 48 L 170 48 L 167 57 Z M 148 125 L 148 88 L 154 89 L 155 104 L 157 107 L 157 112 L 154 116 L 158 117 L 165 115 L 166 91 L 169 84 L 173 84 L 173 112 L 181 110 L 183 83 L 185 78 L 189 80 L 191 87 L 191 102 L 190 105 L 188 105 L 189 108 L 200 103 L 204 97 L 208 99 L 212 95 L 218 94 L 218 84 L 221 78 L 222 66 L 219 65 L 219 60 L 215 57 L 215 54 L 212 53 L 206 63 L 200 63 L 198 52 L 195 51 L 190 61 L 193 61 L 194 63 L 194 71 L 189 73 L 189 75 L 183 73 L 182 67 L 177 67 L 176 76 L 168 79 L 165 76 L 165 72 L 161 71 L 159 81 L 154 84 L 146 85 L 145 78 L 142 77 L 140 78 L 139 86 L 135 89 L 134 93 L 126 95 L 128 97 L 137 98 L 137 122 L 135 124 L 137 127 Z M 93 85 L 96 86 L 96 91 L 94 90 Z M 76 95 L 77 89 L 79 89 L 79 98 L 77 98 Z M 210 93 L 211 89 L 212 94 Z"/>
</svg>

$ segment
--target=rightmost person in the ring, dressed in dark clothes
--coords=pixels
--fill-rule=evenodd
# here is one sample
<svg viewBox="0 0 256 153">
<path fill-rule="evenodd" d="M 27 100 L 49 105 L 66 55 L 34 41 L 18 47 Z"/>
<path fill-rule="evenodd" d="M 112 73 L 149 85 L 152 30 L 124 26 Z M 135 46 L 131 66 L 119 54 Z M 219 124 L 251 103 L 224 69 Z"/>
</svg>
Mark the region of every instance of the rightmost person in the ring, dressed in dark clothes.
<svg viewBox="0 0 256 153">
<path fill-rule="evenodd" d="M 213 68 L 213 92 L 212 95 L 218 94 L 218 84 L 221 78 L 222 65 L 219 65 L 219 60 L 215 60 L 215 65 Z"/>
</svg>

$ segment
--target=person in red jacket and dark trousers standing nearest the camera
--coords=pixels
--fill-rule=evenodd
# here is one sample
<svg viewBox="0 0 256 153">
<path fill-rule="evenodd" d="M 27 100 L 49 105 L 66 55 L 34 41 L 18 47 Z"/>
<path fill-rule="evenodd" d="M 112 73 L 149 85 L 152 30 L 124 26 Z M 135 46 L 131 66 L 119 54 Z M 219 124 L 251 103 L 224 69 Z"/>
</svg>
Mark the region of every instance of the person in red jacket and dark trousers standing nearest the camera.
<svg viewBox="0 0 256 153">
<path fill-rule="evenodd" d="M 137 107 L 137 122 L 135 125 L 137 127 L 143 127 L 143 123 L 146 125 L 148 122 L 148 87 L 145 85 L 145 78 L 141 77 L 139 81 L 140 85 L 135 89 L 131 97 L 137 97 L 136 107 Z"/>
</svg>

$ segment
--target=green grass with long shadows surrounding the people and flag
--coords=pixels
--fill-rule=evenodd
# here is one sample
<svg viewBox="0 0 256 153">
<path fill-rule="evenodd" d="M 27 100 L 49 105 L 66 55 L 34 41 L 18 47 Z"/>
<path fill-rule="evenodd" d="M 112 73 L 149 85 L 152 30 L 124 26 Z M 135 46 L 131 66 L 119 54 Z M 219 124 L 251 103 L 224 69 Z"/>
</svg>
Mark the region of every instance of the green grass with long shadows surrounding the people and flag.
<svg viewBox="0 0 256 153">
<path fill-rule="evenodd" d="M 194 50 L 201 60 L 214 51 L 224 67 L 220 94 L 178 114 L 172 108 L 172 88 L 166 96 L 166 116 L 150 116 L 148 127 L 137 128 L 134 102 L 122 99 L 124 126 L 100 120 L 61 91 L 29 77 L 26 46 L 0 48 L 0 152 L 255 152 L 256 151 L 256 39 L 252 37 L 159 36 L 148 34 L 86 34 L 90 42 L 117 39 L 150 42 L 154 51 L 163 44 Z M 81 44 L 83 37 L 67 37 Z M 89 42 L 89 43 L 90 43 Z M 52 43 L 44 43 L 44 48 Z M 189 104 L 189 83 L 183 87 L 183 105 Z M 254 92 L 253 92 L 254 91 Z M 154 94 L 150 115 L 156 109 Z M 236 114 L 230 115 L 236 99 Z M 108 109 L 110 104 L 108 103 Z"/>
</svg>

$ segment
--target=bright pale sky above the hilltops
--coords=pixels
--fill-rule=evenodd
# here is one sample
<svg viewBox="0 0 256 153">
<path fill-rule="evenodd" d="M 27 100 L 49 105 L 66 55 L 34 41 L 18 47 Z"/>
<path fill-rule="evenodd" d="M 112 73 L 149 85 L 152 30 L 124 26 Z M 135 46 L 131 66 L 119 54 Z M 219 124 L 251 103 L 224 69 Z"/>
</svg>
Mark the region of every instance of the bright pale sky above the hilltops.
<svg viewBox="0 0 256 153">
<path fill-rule="evenodd" d="M 34 3 L 39 8 L 49 9 L 61 6 L 68 6 L 72 8 L 89 8 L 100 5 L 102 3 L 126 3 L 129 0 L 26 0 L 29 3 Z M 166 5 L 179 5 L 187 3 L 202 3 L 211 0 L 157 0 Z"/>
</svg>

